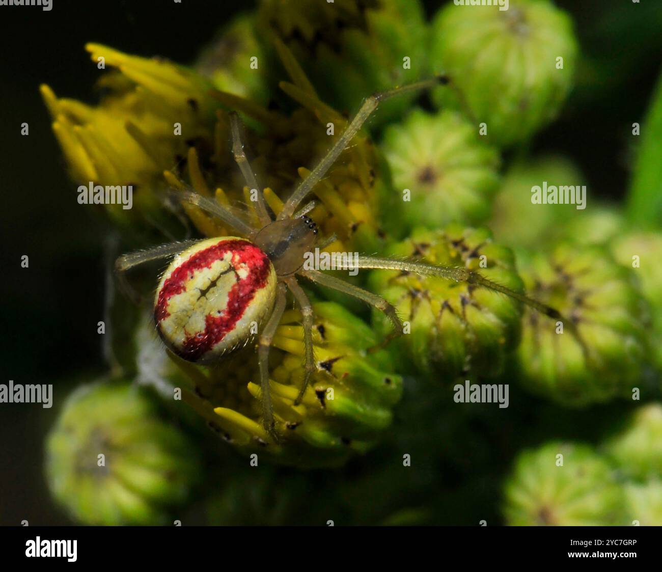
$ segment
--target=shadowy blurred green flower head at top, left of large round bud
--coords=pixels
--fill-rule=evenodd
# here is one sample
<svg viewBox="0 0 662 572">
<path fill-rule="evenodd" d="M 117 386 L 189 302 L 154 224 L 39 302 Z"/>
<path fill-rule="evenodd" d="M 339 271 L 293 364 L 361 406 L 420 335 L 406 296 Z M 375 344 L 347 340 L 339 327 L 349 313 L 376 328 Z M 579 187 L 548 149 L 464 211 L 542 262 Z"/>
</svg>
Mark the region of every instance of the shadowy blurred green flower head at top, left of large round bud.
<svg viewBox="0 0 662 572">
<path fill-rule="evenodd" d="M 419 0 L 262 0 L 258 19 L 261 29 L 271 28 L 293 50 L 336 109 L 354 111 L 372 93 L 428 76 Z M 368 127 L 401 116 L 415 97 L 384 101 Z"/>
</svg>

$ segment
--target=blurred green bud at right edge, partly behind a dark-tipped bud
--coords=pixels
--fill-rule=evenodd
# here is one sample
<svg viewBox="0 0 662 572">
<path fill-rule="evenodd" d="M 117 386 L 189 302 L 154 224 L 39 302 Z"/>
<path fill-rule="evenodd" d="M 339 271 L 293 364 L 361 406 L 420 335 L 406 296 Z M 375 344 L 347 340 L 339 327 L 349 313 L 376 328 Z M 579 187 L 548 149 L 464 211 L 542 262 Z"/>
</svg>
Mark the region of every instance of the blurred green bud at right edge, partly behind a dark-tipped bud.
<svg viewBox="0 0 662 572">
<path fill-rule="evenodd" d="M 657 369 L 662 370 L 662 234 L 643 232 L 614 238 L 611 244 L 616 261 L 639 279 L 639 287 L 651 310 L 649 348 Z"/>
</svg>

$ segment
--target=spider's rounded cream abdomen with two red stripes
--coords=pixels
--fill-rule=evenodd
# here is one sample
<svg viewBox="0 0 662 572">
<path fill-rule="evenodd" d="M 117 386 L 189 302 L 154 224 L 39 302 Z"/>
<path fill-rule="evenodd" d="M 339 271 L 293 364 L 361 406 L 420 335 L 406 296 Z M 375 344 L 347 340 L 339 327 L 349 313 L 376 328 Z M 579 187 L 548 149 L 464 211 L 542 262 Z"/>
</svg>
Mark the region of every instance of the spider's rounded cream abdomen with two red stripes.
<svg viewBox="0 0 662 572">
<path fill-rule="evenodd" d="M 154 320 L 177 356 L 209 363 L 246 343 L 271 312 L 276 273 L 243 238 L 203 240 L 177 255 L 154 301 Z"/>
</svg>

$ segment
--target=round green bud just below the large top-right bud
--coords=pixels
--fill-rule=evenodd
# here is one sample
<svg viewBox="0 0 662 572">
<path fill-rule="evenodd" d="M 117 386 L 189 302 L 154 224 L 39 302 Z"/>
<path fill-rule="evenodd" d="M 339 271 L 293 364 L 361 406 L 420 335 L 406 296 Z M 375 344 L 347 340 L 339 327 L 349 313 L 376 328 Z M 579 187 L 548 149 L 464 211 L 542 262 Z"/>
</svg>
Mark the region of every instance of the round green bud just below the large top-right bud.
<svg viewBox="0 0 662 572">
<path fill-rule="evenodd" d="M 387 230 L 402 236 L 414 226 L 483 222 L 498 184 L 498 153 L 459 113 L 414 110 L 390 125 L 382 150 L 393 191 L 381 208 Z"/>
</svg>

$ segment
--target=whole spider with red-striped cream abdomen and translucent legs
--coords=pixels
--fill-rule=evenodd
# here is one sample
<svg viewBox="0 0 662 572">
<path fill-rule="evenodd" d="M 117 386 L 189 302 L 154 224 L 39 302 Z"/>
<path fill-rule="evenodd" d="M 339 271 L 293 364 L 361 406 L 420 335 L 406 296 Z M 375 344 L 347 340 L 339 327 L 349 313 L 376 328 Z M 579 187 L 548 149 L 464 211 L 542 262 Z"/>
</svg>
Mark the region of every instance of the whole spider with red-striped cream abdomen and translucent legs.
<svg viewBox="0 0 662 572">
<path fill-rule="evenodd" d="M 260 371 L 262 422 L 265 430 L 275 436 L 275 420 L 269 392 L 269 348 L 286 305 L 289 289 L 303 316 L 305 344 L 305 374 L 295 401 L 298 405 L 316 371 L 313 356 L 312 305 L 299 285 L 297 276 L 353 296 L 379 310 L 393 324 L 393 331 L 384 344 L 402 335 L 402 322 L 393 305 L 365 289 L 321 271 L 304 269 L 305 255 L 315 247 L 325 248 L 335 237 L 320 241 L 315 222 L 307 216 L 314 201 L 299 209 L 315 185 L 343 150 L 352 142 L 365 120 L 379 103 L 407 91 L 446 84 L 446 76 L 418 81 L 365 99 L 358 113 L 326 155 L 293 191 L 282 211 L 273 215 L 268 209 L 261 187 L 256 181 L 244 152 L 241 123 L 236 113 L 230 114 L 232 152 L 249 189 L 256 191 L 256 213 L 259 226 L 252 226 L 222 205 L 193 191 L 177 191 L 177 200 L 195 205 L 234 229 L 238 236 L 223 236 L 187 240 L 157 246 L 120 256 L 116 270 L 120 279 L 136 265 L 174 256 L 160 280 L 154 299 L 154 321 L 160 338 L 175 355 L 194 363 L 220 361 L 238 346 L 252 340 L 254 324 L 261 328 L 257 351 Z M 393 269 L 436 276 L 487 287 L 508 295 L 552 318 L 559 312 L 502 285 L 489 281 L 480 273 L 464 267 L 445 267 L 423 262 L 391 260 L 359 256 L 357 260 L 338 266 L 339 269 Z"/>
</svg>

